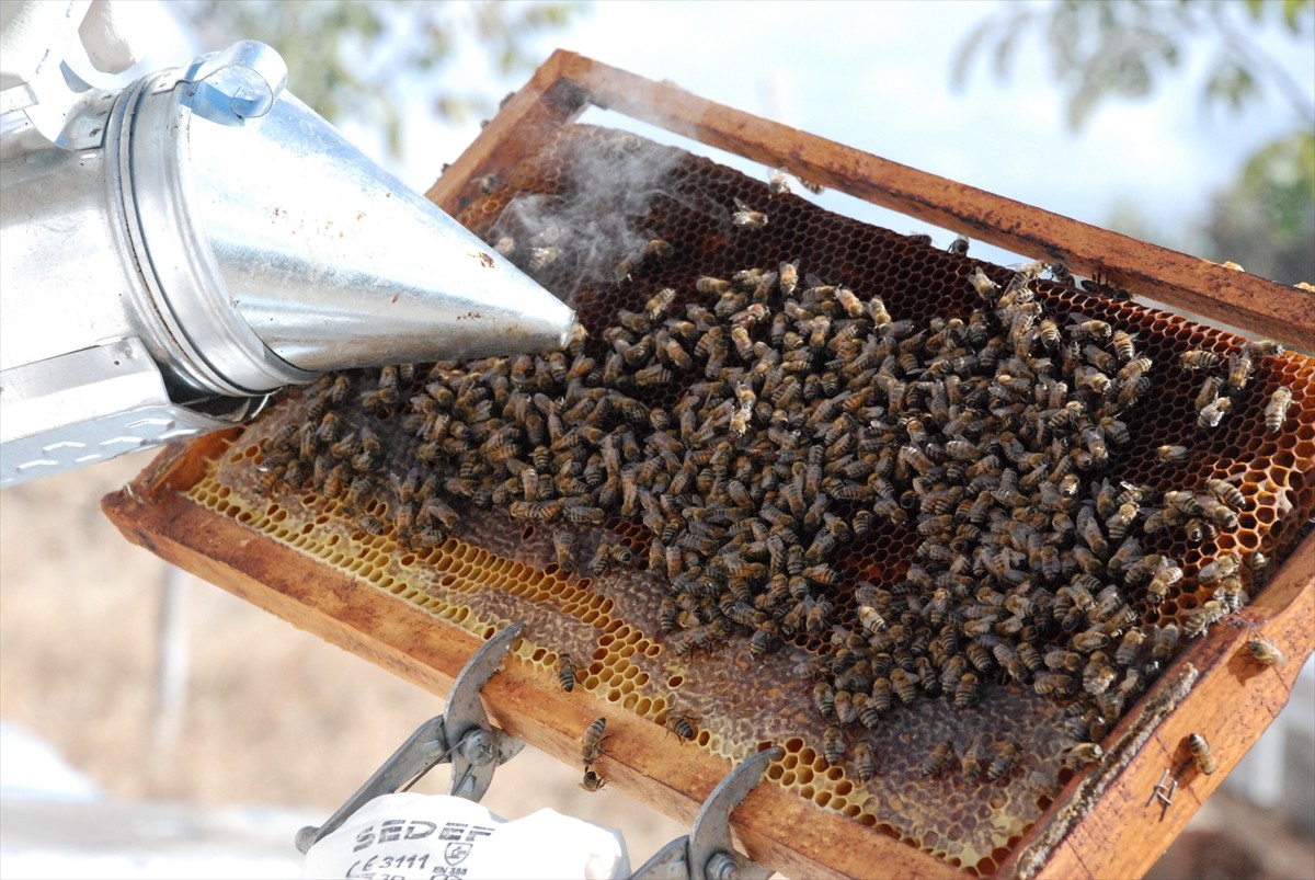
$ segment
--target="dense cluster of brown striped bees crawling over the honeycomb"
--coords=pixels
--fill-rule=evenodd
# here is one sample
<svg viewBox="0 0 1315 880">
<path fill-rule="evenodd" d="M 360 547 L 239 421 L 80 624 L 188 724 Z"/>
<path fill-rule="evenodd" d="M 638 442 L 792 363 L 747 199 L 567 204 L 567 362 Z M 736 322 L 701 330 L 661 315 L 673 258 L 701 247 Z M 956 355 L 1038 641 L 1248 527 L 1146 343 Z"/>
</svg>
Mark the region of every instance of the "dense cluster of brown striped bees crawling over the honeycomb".
<svg viewBox="0 0 1315 880">
<path fill-rule="evenodd" d="M 554 530 L 563 572 L 647 564 L 671 584 L 660 626 L 677 656 L 736 634 L 759 655 L 806 645 L 828 722 L 821 751 L 860 780 L 880 758 L 864 730 L 922 698 L 968 708 L 988 680 L 1064 702 L 1065 755 L 1088 763 L 1180 638 L 1245 601 L 1264 558 L 1219 556 L 1198 579 L 1214 596 L 1181 626 L 1140 625 L 1184 579 L 1180 560 L 1147 549 L 1210 541 L 1247 501 L 1227 481 L 1161 491 L 1109 474 L 1156 364 L 1105 321 L 1048 314 L 1032 291 L 1045 271 L 1024 266 L 1001 284 L 978 270 L 964 281 L 980 297 L 970 316 L 926 326 L 894 318 L 876 292 L 802 276 L 798 262 L 701 276 L 564 351 L 327 376 L 262 468 L 271 488 L 313 487 L 348 509 L 387 489 L 391 526 L 413 547 L 437 546 L 455 508 L 473 504 Z M 1226 379 L 1211 375 L 1202 418 L 1215 424 L 1269 354 L 1249 346 Z M 1184 364 L 1220 362 L 1194 353 Z M 675 405 L 652 403 L 669 389 Z M 348 396 L 404 441 L 385 455 L 375 429 L 345 424 L 331 406 Z M 1286 418 L 1276 401 L 1270 430 Z M 379 534 L 380 516 L 356 524 Z M 613 517 L 643 524 L 647 558 L 604 529 L 577 537 Z M 846 549 L 892 530 L 918 535 L 907 570 L 844 583 Z M 575 675 L 565 658 L 564 689 Z M 693 735 L 679 713 L 668 729 Z M 602 720 L 589 731 L 585 787 L 593 775 L 597 788 Z M 943 742 L 922 771 L 994 781 L 1023 763 L 1016 743 L 959 754 Z"/>
</svg>

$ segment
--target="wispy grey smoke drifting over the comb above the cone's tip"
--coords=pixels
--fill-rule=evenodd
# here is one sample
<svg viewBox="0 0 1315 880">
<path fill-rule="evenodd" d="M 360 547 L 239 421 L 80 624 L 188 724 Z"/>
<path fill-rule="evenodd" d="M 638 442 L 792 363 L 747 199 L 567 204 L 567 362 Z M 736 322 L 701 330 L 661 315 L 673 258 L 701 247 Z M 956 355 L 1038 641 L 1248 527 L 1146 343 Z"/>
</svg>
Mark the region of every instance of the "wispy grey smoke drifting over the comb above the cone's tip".
<svg viewBox="0 0 1315 880">
<path fill-rule="evenodd" d="M 623 132 L 594 129 L 563 145 L 555 193 L 513 199 L 489 239 L 568 305 L 585 287 L 621 280 L 658 237 L 648 217 L 659 199 L 714 216 L 726 209 L 680 192 L 671 171 L 682 153 Z"/>
</svg>

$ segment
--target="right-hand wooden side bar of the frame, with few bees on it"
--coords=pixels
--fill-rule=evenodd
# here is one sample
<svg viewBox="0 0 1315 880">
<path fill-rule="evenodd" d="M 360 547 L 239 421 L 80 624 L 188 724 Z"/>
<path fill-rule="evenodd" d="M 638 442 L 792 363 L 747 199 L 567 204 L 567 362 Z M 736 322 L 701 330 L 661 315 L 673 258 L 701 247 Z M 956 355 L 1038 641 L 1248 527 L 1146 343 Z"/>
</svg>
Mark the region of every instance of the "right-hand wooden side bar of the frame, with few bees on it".
<svg viewBox="0 0 1315 880">
<path fill-rule="evenodd" d="M 1312 621 L 1315 534 L 1293 551 L 1253 604 L 1178 656 L 1115 729 L 1111 741 L 1123 743 L 1123 751 L 1112 751 L 1099 770 L 1069 784 L 998 875 L 1144 875 L 1287 704 L 1302 664 L 1315 652 Z M 1274 642 L 1287 662 L 1266 668 L 1251 659 L 1247 642 L 1256 635 Z M 1170 693 L 1189 667 L 1199 671 L 1190 693 Z M 1157 721 L 1139 730 L 1148 716 Z M 1190 733 L 1202 734 L 1211 746 L 1219 768 L 1210 776 L 1191 760 Z M 1173 804 L 1161 810 L 1155 787 L 1165 770 L 1178 788 Z"/>
</svg>

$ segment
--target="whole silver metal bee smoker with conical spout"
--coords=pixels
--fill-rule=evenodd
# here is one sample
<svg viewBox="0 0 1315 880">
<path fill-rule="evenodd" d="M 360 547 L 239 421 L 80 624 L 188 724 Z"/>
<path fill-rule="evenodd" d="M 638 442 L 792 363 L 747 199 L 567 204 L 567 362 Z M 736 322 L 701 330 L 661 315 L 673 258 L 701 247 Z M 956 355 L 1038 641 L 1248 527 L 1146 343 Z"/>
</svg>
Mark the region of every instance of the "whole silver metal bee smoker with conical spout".
<svg viewBox="0 0 1315 880">
<path fill-rule="evenodd" d="M 247 41 L 120 91 L 55 58 L 0 92 L 0 485 L 330 370 L 564 345 L 567 305 L 285 80 Z"/>
</svg>

